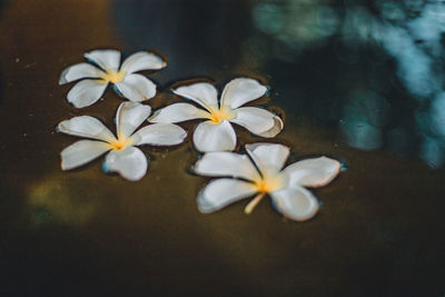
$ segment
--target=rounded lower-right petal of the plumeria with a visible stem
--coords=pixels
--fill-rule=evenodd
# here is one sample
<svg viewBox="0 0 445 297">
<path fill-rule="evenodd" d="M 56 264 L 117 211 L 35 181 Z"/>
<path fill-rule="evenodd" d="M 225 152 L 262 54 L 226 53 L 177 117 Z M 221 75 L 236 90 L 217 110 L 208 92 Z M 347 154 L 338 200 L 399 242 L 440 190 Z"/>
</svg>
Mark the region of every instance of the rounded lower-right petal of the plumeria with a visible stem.
<svg viewBox="0 0 445 297">
<path fill-rule="evenodd" d="M 293 220 L 307 220 L 318 211 L 318 201 L 305 188 L 289 187 L 270 194 L 275 208 Z"/>
</svg>

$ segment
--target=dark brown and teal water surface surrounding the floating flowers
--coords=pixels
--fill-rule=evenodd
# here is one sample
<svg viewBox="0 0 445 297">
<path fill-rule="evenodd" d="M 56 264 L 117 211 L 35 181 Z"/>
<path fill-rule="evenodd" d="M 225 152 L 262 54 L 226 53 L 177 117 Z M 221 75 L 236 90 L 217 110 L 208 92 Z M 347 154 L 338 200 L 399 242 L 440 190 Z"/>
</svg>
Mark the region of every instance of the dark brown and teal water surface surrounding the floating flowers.
<svg viewBox="0 0 445 297">
<path fill-rule="evenodd" d="M 443 296 L 445 6 L 441 1 L 1 1 L 0 295 Z M 283 219 L 264 200 L 214 215 L 195 198 L 198 154 L 142 148 L 139 182 L 98 159 L 63 172 L 76 138 L 55 127 L 121 102 L 73 109 L 60 71 L 85 51 L 152 49 L 155 108 L 181 79 L 271 86 L 285 116 L 273 141 L 293 160 L 347 171 L 317 189 L 320 212 Z M 184 125 L 191 129 L 194 123 Z M 263 140 L 238 128 L 241 145 Z"/>
</svg>

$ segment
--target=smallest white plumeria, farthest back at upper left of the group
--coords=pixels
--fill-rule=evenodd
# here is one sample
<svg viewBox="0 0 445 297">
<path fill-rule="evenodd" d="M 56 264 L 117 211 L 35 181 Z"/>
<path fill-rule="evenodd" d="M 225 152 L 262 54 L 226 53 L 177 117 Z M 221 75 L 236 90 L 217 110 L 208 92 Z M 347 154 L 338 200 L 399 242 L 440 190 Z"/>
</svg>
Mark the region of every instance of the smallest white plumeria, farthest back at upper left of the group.
<svg viewBox="0 0 445 297">
<path fill-rule="evenodd" d="M 66 68 L 60 75 L 59 85 L 83 79 L 72 87 L 67 99 L 76 108 L 95 103 L 103 95 L 109 82 L 130 101 L 141 102 L 156 95 L 156 85 L 148 78 L 135 72 L 157 70 L 166 67 L 159 56 L 139 51 L 128 57 L 120 66 L 120 52 L 117 50 L 93 50 L 83 55 L 90 63 L 77 63 Z M 120 68 L 119 68 L 120 66 Z"/>
</svg>

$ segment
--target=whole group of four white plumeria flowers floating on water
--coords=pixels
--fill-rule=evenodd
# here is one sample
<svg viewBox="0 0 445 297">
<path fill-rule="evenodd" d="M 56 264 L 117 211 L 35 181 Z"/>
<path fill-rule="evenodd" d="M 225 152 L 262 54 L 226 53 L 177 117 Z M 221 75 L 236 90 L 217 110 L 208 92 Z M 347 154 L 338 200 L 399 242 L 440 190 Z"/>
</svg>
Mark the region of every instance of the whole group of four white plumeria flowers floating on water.
<svg viewBox="0 0 445 297">
<path fill-rule="evenodd" d="M 231 123 L 250 132 L 273 138 L 283 129 L 281 119 L 257 107 L 241 107 L 266 95 L 267 88 L 255 79 L 236 78 L 229 81 L 218 100 L 218 91 L 207 82 L 197 82 L 174 89 L 174 93 L 194 101 L 174 103 L 151 113 L 151 107 L 141 103 L 156 95 L 156 85 L 135 73 L 166 67 L 158 56 L 140 51 L 128 57 L 120 66 L 120 52 L 95 50 L 85 55 L 91 63 L 78 63 L 65 69 L 59 83 L 81 79 L 68 92 L 67 99 L 76 108 L 95 103 L 109 82 L 130 101 L 122 102 L 116 115 L 115 136 L 101 121 L 81 116 L 59 123 L 58 131 L 88 138 L 62 150 L 61 168 L 69 170 L 82 166 L 109 151 L 103 162 L 105 171 L 120 174 L 128 180 L 140 180 L 147 172 L 147 158 L 136 146 L 176 146 L 187 132 L 175 122 L 205 119 L 194 132 L 195 148 L 205 152 L 196 162 L 198 175 L 225 177 L 209 182 L 198 195 L 201 212 L 216 211 L 236 200 L 257 196 L 246 206 L 254 207 L 269 194 L 275 207 L 293 220 L 306 220 L 318 210 L 318 201 L 304 187 L 320 187 L 333 180 L 340 165 L 326 157 L 307 159 L 285 169 L 289 148 L 278 143 L 247 145 L 248 156 L 231 152 L 237 137 Z M 119 67 L 120 66 L 120 67 Z M 151 122 L 139 130 L 145 121 Z M 136 131 L 137 130 L 137 131 Z M 136 131 L 136 132 L 135 132 Z"/>
</svg>

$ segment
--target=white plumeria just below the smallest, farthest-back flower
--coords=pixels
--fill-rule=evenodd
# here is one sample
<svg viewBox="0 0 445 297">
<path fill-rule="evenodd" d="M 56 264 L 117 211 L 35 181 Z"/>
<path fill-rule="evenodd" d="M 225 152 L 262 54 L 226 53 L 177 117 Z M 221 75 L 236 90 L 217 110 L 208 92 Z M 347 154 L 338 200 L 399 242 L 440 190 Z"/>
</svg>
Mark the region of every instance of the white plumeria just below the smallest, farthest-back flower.
<svg viewBox="0 0 445 297">
<path fill-rule="evenodd" d="M 96 139 L 80 140 L 63 149 L 61 168 L 79 167 L 110 150 L 103 162 L 105 171 L 118 172 L 128 180 L 141 179 L 148 164 L 144 152 L 135 146 L 175 146 L 187 136 L 182 128 L 172 123 L 149 125 L 135 132 L 150 112 L 149 106 L 122 102 L 116 115 L 117 137 L 93 117 L 81 116 L 60 122 L 60 132 Z"/>
</svg>

